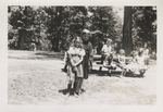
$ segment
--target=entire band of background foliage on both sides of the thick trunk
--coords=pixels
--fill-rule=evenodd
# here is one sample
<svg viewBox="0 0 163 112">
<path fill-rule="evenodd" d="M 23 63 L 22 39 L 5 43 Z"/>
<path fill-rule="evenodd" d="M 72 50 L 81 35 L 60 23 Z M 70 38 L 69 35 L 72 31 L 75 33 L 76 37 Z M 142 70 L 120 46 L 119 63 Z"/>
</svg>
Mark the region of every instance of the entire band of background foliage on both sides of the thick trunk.
<svg viewBox="0 0 163 112">
<path fill-rule="evenodd" d="M 95 48 L 100 40 L 111 38 L 118 50 L 122 48 L 123 20 L 115 9 L 117 8 L 9 5 L 9 47 L 25 49 L 24 45 L 35 42 L 37 50 L 66 50 L 72 39 L 87 28 L 91 30 L 90 41 Z M 134 47 L 148 42 L 155 50 L 156 10 L 154 7 L 134 7 L 133 11 Z"/>
</svg>

